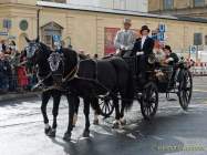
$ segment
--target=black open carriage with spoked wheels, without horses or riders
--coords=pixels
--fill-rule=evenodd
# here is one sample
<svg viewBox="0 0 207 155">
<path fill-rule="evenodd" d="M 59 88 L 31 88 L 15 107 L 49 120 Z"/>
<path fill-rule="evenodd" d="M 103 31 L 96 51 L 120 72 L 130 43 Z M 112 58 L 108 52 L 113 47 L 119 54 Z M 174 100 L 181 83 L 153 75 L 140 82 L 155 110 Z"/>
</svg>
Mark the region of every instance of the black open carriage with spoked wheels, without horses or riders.
<svg viewBox="0 0 207 155">
<path fill-rule="evenodd" d="M 193 79 L 187 64 L 179 61 L 175 65 L 161 65 L 155 62 L 152 56 L 146 70 L 146 82 L 141 84 L 137 78 L 137 56 L 123 58 L 130 66 L 134 79 L 134 100 L 141 103 L 141 111 L 146 120 L 151 120 L 158 107 L 158 96 L 165 93 L 169 99 L 169 94 L 177 94 L 179 104 L 183 110 L 187 110 L 190 103 L 193 92 Z M 118 96 L 117 96 L 118 97 Z M 127 100 L 127 99 L 120 99 Z M 114 105 L 110 95 L 101 97 L 100 107 L 102 115 L 108 117 L 113 111 Z"/>
</svg>

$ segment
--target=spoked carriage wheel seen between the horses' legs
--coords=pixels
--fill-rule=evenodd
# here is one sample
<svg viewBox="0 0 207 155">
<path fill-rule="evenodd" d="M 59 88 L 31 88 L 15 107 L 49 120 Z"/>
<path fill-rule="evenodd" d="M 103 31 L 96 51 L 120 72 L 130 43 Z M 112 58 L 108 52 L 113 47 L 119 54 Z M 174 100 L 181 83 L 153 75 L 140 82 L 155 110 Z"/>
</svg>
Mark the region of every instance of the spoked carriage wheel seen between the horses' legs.
<svg viewBox="0 0 207 155">
<path fill-rule="evenodd" d="M 111 96 L 105 96 L 101 99 L 99 104 L 100 104 L 101 114 L 104 117 L 111 116 L 111 114 L 114 112 L 114 104 Z"/>
</svg>

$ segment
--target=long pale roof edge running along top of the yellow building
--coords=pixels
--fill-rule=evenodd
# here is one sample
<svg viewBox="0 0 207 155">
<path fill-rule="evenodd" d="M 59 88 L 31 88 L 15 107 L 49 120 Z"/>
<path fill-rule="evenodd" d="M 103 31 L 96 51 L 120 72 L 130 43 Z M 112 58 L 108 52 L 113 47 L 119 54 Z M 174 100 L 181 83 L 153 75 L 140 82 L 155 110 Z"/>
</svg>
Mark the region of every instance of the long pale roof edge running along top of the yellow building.
<svg viewBox="0 0 207 155">
<path fill-rule="evenodd" d="M 69 10 L 79 10 L 79 11 L 103 12 L 103 13 L 114 13 L 114 14 L 122 14 L 122 16 L 134 16 L 134 17 L 207 23 L 207 19 L 201 19 L 201 18 L 164 16 L 164 14 L 144 13 L 144 12 L 128 11 L 128 10 L 108 9 L 108 8 L 91 7 L 91 6 L 77 6 L 77 4 L 70 4 L 70 3 L 56 3 L 56 2 L 46 2 L 46 1 L 38 1 L 37 4 L 40 7 L 56 8 L 56 9 L 69 9 Z"/>
</svg>

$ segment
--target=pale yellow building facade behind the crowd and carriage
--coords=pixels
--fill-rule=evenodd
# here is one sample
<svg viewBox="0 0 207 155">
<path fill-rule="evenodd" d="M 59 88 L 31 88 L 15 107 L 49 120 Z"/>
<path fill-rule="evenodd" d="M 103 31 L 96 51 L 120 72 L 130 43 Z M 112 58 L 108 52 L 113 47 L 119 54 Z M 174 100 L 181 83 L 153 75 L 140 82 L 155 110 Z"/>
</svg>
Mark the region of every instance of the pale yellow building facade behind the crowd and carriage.
<svg viewBox="0 0 207 155">
<path fill-rule="evenodd" d="M 39 28 L 38 25 L 39 12 Z M 51 45 L 52 35 L 60 34 L 65 45 L 72 44 L 75 50 L 84 50 L 87 53 L 104 54 L 107 41 L 112 34 L 107 29 L 122 28 L 124 18 L 131 18 L 132 29 L 139 29 L 147 24 L 156 30 L 159 23 L 166 25 L 166 43 L 177 52 L 184 52 L 194 44 L 194 34 L 201 33 L 203 43 L 206 45 L 207 21 L 180 20 L 175 17 L 154 16 L 148 13 L 134 13 L 114 10 L 93 10 L 93 8 L 70 8 L 66 4 L 53 2 L 38 2 L 35 0 L 0 0 L 0 40 L 14 40 L 19 50 L 25 46 L 24 37 L 37 38 L 38 29 L 41 41 Z M 3 25 L 10 21 L 9 29 Z M 108 32 L 111 32 L 108 31 Z M 3 32 L 8 32 L 3 34 Z"/>
</svg>

